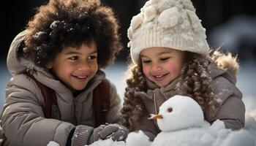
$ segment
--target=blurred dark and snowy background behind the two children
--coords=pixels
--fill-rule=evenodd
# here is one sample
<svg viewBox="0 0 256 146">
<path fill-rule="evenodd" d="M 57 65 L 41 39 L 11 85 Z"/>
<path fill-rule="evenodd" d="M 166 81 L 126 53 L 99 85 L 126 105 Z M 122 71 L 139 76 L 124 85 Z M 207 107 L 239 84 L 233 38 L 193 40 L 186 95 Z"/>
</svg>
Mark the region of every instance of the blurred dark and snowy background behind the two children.
<svg viewBox="0 0 256 146">
<path fill-rule="evenodd" d="M 15 35 L 26 27 L 36 12 L 36 7 L 46 0 L 6 1 L 1 4 L 0 31 L 0 107 L 4 104 L 4 89 L 11 75 L 7 71 L 7 53 Z M 133 15 L 140 12 L 146 0 L 103 0 L 113 7 L 120 20 L 121 41 L 124 49 L 117 56 L 115 64 L 105 71 L 107 77 L 116 84 L 121 98 L 124 95 L 124 72 L 127 69 L 127 28 Z M 222 46 L 222 50 L 238 54 L 241 70 L 238 74 L 238 88 L 245 98 L 256 98 L 256 10 L 252 0 L 192 0 L 197 15 L 206 28 L 211 47 Z M 252 103 L 251 103 L 252 104 Z M 256 103 L 254 103 L 256 104 Z M 1 110 L 0 110 L 1 111 Z"/>
</svg>

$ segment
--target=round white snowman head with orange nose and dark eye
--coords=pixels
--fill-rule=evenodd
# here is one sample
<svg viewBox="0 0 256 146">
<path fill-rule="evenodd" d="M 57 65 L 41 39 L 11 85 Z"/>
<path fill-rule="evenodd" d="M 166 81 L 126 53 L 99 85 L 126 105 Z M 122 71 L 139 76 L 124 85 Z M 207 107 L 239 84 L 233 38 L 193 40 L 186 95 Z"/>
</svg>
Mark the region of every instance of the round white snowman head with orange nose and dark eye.
<svg viewBox="0 0 256 146">
<path fill-rule="evenodd" d="M 157 119 L 159 128 L 165 132 L 200 127 L 204 120 L 200 105 L 188 96 L 171 97 L 152 118 Z"/>
</svg>

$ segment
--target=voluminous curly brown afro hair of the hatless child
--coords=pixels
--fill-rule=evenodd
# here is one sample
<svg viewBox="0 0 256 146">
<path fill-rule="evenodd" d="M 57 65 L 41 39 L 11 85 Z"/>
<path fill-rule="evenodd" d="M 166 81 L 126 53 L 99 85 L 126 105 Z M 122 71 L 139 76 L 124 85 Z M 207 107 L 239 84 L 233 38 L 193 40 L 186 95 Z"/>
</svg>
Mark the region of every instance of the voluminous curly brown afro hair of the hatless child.
<svg viewBox="0 0 256 146">
<path fill-rule="evenodd" d="M 99 68 L 113 63 L 122 45 L 118 21 L 99 0 L 50 0 L 27 26 L 24 57 L 44 67 L 64 46 L 97 43 Z"/>
</svg>

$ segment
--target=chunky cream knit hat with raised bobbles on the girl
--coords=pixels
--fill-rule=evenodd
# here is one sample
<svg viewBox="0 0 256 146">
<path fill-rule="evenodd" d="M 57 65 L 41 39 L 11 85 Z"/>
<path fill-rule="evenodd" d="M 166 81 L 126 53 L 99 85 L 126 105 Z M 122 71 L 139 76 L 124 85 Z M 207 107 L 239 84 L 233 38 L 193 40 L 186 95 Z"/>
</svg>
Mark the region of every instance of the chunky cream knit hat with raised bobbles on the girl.
<svg viewBox="0 0 256 146">
<path fill-rule="evenodd" d="M 190 0 L 149 0 L 132 18 L 128 29 L 132 61 L 148 47 L 170 47 L 208 55 L 206 29 Z"/>
</svg>

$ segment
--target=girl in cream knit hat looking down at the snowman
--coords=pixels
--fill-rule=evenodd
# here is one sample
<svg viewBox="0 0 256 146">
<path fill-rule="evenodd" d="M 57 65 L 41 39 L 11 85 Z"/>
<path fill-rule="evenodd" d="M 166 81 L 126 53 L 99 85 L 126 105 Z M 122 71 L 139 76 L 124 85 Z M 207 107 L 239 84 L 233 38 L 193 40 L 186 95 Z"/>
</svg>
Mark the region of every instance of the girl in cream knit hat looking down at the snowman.
<svg viewBox="0 0 256 146">
<path fill-rule="evenodd" d="M 220 119 L 226 128 L 242 128 L 245 107 L 236 87 L 238 63 L 230 53 L 210 51 L 192 2 L 149 0 L 140 10 L 128 29 L 132 65 L 122 124 L 129 131 L 144 131 L 152 141 L 160 130 L 148 117 L 178 94 L 195 99 L 208 122 Z"/>
</svg>

